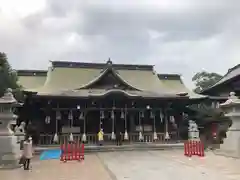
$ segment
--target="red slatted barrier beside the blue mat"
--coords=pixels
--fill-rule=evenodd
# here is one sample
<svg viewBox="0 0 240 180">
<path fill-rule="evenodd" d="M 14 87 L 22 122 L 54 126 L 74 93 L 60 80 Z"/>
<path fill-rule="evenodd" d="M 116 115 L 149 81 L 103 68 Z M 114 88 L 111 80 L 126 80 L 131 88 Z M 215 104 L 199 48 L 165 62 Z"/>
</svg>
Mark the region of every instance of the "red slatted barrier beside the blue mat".
<svg viewBox="0 0 240 180">
<path fill-rule="evenodd" d="M 84 160 L 84 144 L 64 143 L 61 145 L 60 161 L 82 161 Z"/>
</svg>

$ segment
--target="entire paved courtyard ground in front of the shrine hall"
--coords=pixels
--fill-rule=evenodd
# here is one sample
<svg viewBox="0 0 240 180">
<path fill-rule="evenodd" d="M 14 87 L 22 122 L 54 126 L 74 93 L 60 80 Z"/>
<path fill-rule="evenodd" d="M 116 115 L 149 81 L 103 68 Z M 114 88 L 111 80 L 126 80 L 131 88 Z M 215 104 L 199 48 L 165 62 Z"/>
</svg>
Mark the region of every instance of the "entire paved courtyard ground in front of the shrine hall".
<svg viewBox="0 0 240 180">
<path fill-rule="evenodd" d="M 180 150 L 107 152 L 86 156 L 85 162 L 33 162 L 31 171 L 0 170 L 4 180 L 239 180 L 240 160 L 207 153 L 186 158 Z"/>
</svg>

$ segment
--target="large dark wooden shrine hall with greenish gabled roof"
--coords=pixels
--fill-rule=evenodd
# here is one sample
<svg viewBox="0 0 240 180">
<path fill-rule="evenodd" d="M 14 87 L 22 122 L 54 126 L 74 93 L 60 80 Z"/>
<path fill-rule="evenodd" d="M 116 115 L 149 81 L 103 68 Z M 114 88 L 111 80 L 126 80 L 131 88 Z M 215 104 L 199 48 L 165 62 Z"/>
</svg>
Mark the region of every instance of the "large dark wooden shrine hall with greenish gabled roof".
<svg viewBox="0 0 240 180">
<path fill-rule="evenodd" d="M 153 65 L 53 61 L 48 71 L 19 71 L 26 98 L 19 121 L 41 136 L 86 135 L 106 140 L 116 132 L 130 141 L 177 139 L 178 124 L 190 104 L 205 96 L 188 90 L 178 74 L 158 74 Z M 156 137 L 153 136 L 153 134 Z M 46 143 L 46 142 L 44 142 Z"/>
</svg>

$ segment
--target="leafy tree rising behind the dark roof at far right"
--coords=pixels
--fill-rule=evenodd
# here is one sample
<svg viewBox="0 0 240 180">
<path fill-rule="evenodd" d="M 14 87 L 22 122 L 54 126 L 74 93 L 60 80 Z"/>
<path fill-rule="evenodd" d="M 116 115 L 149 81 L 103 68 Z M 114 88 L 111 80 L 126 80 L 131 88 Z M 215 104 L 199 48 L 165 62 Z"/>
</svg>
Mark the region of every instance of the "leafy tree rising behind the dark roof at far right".
<svg viewBox="0 0 240 180">
<path fill-rule="evenodd" d="M 206 71 L 195 74 L 192 78 L 196 88 L 194 92 L 201 92 L 214 84 L 216 84 L 223 76 L 217 73 L 209 73 Z"/>
</svg>

